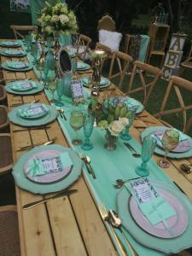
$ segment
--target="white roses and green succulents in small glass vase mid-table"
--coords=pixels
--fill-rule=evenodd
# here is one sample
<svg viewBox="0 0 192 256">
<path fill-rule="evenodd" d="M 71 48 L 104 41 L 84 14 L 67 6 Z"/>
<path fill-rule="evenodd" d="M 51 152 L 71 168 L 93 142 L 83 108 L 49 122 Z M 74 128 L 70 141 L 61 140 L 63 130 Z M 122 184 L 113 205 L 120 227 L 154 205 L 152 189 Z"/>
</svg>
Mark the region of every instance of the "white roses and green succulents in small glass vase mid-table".
<svg viewBox="0 0 192 256">
<path fill-rule="evenodd" d="M 107 131 L 104 146 L 108 150 L 116 148 L 117 138 L 129 124 L 130 113 L 126 101 L 126 96 L 113 96 L 103 102 L 95 100 L 90 105 L 89 110 L 96 116 L 97 126 Z"/>
</svg>

